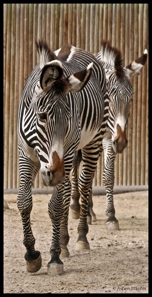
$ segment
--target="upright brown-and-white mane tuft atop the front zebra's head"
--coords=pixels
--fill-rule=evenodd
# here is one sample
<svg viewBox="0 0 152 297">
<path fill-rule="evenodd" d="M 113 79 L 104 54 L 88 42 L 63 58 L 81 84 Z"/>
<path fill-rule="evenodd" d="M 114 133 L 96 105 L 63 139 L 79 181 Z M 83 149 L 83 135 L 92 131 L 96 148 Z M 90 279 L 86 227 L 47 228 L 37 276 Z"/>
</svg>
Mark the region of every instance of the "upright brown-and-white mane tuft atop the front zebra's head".
<svg viewBox="0 0 152 297">
<path fill-rule="evenodd" d="M 48 43 L 44 40 L 35 40 L 36 48 L 40 56 L 40 69 L 44 67 L 44 65 L 52 60 L 58 59 L 56 55 L 51 51 Z"/>
</svg>

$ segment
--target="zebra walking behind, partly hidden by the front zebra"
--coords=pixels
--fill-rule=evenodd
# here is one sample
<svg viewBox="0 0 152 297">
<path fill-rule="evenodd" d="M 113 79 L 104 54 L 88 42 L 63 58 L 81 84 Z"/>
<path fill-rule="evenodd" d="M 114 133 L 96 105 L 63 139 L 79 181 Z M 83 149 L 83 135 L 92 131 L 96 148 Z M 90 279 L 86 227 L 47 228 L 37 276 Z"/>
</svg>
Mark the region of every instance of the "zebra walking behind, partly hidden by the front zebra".
<svg viewBox="0 0 152 297">
<path fill-rule="evenodd" d="M 112 47 L 109 41 L 103 41 L 101 51 L 96 54 L 105 71 L 107 90 L 109 95 L 109 116 L 107 130 L 103 137 L 100 154 L 104 151 L 103 184 L 106 189 L 106 228 L 108 230 L 119 230 L 118 220 L 115 218 L 113 203 L 114 186 L 114 162 L 117 153 L 122 153 L 127 147 L 126 135 L 127 122 L 130 114 L 133 88 L 130 78 L 141 73 L 143 65 L 147 61 L 147 49 L 144 54 L 122 67 L 122 54 L 119 49 Z M 72 168 L 72 203 L 70 205 L 71 215 L 78 219 L 80 214 L 79 191 L 77 171 L 81 162 L 81 150 L 75 153 Z M 93 211 L 92 189 L 88 199 L 88 224 L 96 221 L 96 214 Z"/>
</svg>

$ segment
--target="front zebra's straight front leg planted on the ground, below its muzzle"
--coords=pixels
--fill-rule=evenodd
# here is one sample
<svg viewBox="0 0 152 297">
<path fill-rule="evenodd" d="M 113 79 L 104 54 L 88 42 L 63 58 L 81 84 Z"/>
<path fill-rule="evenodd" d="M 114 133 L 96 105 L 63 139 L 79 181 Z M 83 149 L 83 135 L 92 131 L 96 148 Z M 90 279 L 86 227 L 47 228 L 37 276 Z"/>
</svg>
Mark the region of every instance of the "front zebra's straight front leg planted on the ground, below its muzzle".
<svg viewBox="0 0 152 297">
<path fill-rule="evenodd" d="M 52 241 L 50 247 L 51 261 L 48 263 L 47 273 L 52 276 L 62 275 L 64 274 L 63 262 L 59 256 L 61 254 L 60 225 L 63 216 L 63 184 L 53 189 L 48 209 L 52 223 Z"/>
</svg>

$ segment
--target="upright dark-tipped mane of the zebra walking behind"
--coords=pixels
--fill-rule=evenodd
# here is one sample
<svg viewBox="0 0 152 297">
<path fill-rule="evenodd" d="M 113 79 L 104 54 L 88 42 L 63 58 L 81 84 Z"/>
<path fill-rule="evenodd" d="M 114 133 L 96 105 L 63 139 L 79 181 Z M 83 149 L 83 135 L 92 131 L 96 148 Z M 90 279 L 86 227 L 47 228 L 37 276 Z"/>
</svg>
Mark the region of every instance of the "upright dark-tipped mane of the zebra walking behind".
<svg viewBox="0 0 152 297">
<path fill-rule="evenodd" d="M 116 76 L 122 79 L 125 76 L 125 71 L 122 66 L 122 54 L 119 49 L 112 47 L 110 41 L 101 42 L 101 63 L 106 64 L 107 69 L 115 68 Z"/>
</svg>

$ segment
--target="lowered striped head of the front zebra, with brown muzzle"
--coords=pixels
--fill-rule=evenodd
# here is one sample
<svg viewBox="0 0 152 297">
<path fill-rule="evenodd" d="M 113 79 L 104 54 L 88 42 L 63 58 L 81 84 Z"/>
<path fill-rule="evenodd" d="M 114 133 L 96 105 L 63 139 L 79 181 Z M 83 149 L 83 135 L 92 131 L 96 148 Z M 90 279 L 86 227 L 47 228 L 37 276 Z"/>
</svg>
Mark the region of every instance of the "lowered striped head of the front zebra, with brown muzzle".
<svg viewBox="0 0 152 297">
<path fill-rule="evenodd" d="M 65 178 L 64 153 L 67 148 L 64 139 L 71 119 L 67 93 L 83 89 L 91 76 L 93 63 L 87 69 L 65 77 L 64 67 L 57 59 L 41 67 L 47 50 L 45 46 L 40 54 L 39 75 L 31 81 L 29 88 L 28 95 L 31 96 L 31 90 L 33 94 L 25 114 L 24 133 L 41 163 L 43 184 L 56 186 Z"/>
</svg>

